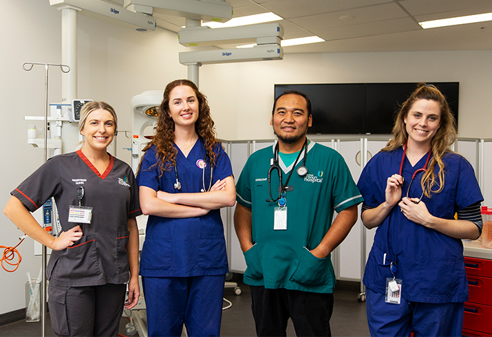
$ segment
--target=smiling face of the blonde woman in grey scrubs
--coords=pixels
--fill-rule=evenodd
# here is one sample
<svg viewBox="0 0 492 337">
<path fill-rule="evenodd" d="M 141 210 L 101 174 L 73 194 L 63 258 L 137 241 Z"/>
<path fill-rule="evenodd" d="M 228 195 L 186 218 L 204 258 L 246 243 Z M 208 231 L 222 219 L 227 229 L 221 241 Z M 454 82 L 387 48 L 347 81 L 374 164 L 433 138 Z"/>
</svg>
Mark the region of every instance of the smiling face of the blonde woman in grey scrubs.
<svg viewBox="0 0 492 337">
<path fill-rule="evenodd" d="M 114 138 L 115 122 L 113 115 L 105 109 L 89 113 L 85 119 L 81 135 L 85 135 L 84 149 L 106 151 Z"/>
</svg>

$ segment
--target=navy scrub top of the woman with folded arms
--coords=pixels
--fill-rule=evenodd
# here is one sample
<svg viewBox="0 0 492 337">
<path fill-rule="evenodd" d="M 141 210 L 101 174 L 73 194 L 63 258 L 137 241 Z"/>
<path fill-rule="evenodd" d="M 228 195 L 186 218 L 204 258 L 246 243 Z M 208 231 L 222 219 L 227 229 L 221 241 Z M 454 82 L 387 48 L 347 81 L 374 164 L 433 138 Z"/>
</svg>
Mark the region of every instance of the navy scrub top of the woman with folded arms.
<svg viewBox="0 0 492 337">
<path fill-rule="evenodd" d="M 205 158 L 202 140 L 197 140 L 188 157 L 178 149 L 176 166 L 181 190 L 174 188 L 175 168 L 160 175 L 156 146 L 145 153 L 140 173 L 139 186 L 147 186 L 154 191 L 168 193 L 200 193 L 208 190 L 211 182 L 211 164 L 206 162 L 204 171 L 200 161 Z M 233 175 L 231 161 L 220 144 L 215 144 L 216 164 L 213 166 L 213 181 L 223 180 Z M 220 275 L 228 272 L 226 241 L 220 210 L 211 210 L 201 217 L 173 219 L 149 215 L 145 242 L 140 257 L 142 276 L 203 276 Z"/>
</svg>

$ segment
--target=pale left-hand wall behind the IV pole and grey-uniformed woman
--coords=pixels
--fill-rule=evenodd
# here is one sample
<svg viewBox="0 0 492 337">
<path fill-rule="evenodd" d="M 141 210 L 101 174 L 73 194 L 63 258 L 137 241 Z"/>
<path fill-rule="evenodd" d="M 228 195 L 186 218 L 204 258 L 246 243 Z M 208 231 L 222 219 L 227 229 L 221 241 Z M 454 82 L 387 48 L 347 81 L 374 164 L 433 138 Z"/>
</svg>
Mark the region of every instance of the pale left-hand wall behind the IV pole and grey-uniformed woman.
<svg viewBox="0 0 492 337">
<path fill-rule="evenodd" d="M 24 116 L 44 115 L 45 69 L 30 72 L 24 62 L 61 63 L 61 12 L 47 0 L 2 1 L 0 11 L 0 123 L 3 146 L 0 166 L 0 208 L 12 191 L 43 163 L 43 150 L 27 144 L 28 124 Z M 142 91 L 164 89 L 176 78 L 186 78 L 180 65 L 177 34 L 158 28 L 139 33 L 117 24 L 78 15 L 78 98 L 104 100 L 118 113 L 118 129 L 131 130 L 132 96 Z M 49 72 L 49 102 L 61 100 L 61 72 Z M 131 136 L 131 135 L 130 135 Z M 129 160 L 129 140 L 118 135 L 118 157 Z M 73 146 L 74 144 L 72 144 Z M 1 213 L 1 246 L 15 246 L 22 233 Z M 0 314 L 25 307 L 26 272 L 36 277 L 41 257 L 34 257 L 32 239 L 18 248 L 22 262 L 16 272 L 0 269 Z"/>
</svg>

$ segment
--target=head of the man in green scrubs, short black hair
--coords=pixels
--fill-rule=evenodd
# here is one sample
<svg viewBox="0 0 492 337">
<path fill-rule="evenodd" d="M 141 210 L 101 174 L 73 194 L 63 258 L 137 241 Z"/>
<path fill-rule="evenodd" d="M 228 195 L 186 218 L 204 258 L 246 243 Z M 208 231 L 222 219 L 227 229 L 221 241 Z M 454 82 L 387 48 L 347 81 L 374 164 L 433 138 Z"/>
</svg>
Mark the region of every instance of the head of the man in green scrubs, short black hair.
<svg viewBox="0 0 492 337">
<path fill-rule="evenodd" d="M 308 127 L 312 125 L 306 99 L 297 94 L 281 96 L 275 104 L 270 125 L 273 126 L 279 143 L 303 144 Z"/>
</svg>

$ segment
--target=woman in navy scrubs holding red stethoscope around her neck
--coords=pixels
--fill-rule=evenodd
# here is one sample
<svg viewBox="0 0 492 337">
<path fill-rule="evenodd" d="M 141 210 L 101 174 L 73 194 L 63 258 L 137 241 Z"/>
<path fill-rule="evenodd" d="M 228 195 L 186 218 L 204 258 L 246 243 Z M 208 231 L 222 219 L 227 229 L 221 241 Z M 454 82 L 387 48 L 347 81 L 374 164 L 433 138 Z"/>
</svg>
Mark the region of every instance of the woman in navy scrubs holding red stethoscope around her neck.
<svg viewBox="0 0 492 337">
<path fill-rule="evenodd" d="M 363 224 L 377 227 L 363 279 L 372 336 L 462 335 L 461 239 L 480 236 L 483 197 L 469 162 L 449 149 L 455 125 L 445 97 L 420 83 L 357 184 Z"/>
</svg>

